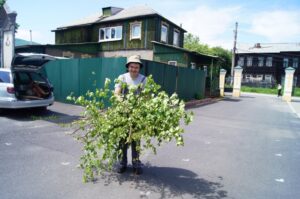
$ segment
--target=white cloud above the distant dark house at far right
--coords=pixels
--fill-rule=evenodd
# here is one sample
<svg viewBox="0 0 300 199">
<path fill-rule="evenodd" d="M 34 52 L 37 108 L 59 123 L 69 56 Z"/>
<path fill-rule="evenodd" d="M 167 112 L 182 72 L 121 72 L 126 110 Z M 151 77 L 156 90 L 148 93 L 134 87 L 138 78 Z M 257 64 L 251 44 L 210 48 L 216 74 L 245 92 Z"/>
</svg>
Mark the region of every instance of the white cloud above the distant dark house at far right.
<svg viewBox="0 0 300 199">
<path fill-rule="evenodd" d="M 300 12 L 263 11 L 253 17 L 249 32 L 264 36 L 269 42 L 299 42 Z"/>
</svg>

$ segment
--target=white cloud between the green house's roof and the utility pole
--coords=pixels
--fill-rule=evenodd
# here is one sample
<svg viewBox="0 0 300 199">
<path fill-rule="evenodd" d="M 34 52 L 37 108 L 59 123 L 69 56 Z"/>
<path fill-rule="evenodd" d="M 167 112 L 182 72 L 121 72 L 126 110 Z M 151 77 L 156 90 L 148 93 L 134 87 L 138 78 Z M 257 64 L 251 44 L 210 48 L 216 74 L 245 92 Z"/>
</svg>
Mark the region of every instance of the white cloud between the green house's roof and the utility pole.
<svg viewBox="0 0 300 199">
<path fill-rule="evenodd" d="M 176 15 L 173 20 L 183 23 L 183 28 L 210 46 L 231 49 L 233 29 L 241 8 L 239 6 L 214 8 L 200 6 Z"/>
</svg>

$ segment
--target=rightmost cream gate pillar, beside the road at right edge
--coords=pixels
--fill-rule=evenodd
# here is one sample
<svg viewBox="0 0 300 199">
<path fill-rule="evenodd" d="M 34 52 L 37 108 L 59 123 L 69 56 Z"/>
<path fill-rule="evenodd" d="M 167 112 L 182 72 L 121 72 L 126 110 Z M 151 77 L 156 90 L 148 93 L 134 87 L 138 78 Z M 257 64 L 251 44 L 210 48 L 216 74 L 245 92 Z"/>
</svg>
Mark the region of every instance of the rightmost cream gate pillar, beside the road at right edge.
<svg viewBox="0 0 300 199">
<path fill-rule="evenodd" d="M 287 102 L 292 101 L 294 73 L 295 69 L 293 67 L 288 67 L 285 69 L 284 93 L 282 96 L 282 100 Z"/>
</svg>

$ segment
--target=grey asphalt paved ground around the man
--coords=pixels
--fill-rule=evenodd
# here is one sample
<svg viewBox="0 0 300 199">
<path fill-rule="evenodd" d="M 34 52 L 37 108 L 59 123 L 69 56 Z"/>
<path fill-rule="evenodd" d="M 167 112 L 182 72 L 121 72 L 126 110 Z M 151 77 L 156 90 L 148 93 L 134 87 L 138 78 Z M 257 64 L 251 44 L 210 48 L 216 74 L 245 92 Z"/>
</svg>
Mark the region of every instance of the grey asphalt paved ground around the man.
<svg viewBox="0 0 300 199">
<path fill-rule="evenodd" d="M 81 108 L 56 103 L 47 114 L 4 112 L 0 198 L 296 199 L 299 104 L 244 94 L 192 108 L 184 147 L 170 143 L 156 156 L 144 154 L 140 177 L 107 173 L 87 184 L 76 167 L 81 146 L 60 125 L 76 119 Z"/>
</svg>

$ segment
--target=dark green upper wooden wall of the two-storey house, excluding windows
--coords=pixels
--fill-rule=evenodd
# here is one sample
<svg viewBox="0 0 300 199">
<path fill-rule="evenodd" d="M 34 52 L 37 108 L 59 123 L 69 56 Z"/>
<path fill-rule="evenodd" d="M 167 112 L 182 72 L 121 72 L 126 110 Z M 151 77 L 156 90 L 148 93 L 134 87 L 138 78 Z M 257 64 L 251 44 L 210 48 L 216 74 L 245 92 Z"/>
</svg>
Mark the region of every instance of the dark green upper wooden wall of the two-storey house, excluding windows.
<svg viewBox="0 0 300 199">
<path fill-rule="evenodd" d="M 141 22 L 141 39 L 130 39 L 130 24 Z M 137 17 L 123 21 L 92 24 L 89 26 L 73 27 L 55 31 L 55 43 L 88 43 L 99 42 L 99 29 L 104 27 L 122 26 L 122 40 L 99 42 L 100 51 L 115 51 L 127 49 L 153 49 L 152 41 L 161 40 L 161 23 L 164 22 L 168 28 L 168 44 L 173 45 L 173 31 L 176 28 L 180 32 L 179 47 L 183 46 L 183 30 L 163 20 L 158 16 Z"/>
</svg>

